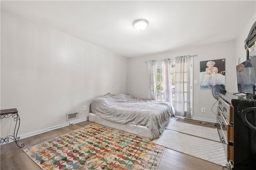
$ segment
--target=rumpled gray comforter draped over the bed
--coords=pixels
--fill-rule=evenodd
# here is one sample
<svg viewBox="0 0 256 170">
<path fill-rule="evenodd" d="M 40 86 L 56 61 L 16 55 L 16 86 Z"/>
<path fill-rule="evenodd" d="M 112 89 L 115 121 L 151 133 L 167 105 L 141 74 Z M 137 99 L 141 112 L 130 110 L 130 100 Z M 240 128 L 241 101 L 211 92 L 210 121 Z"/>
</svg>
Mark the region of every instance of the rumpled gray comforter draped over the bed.
<svg viewBox="0 0 256 170">
<path fill-rule="evenodd" d="M 92 113 L 114 123 L 148 127 L 155 138 L 161 133 L 161 125 L 172 115 L 168 102 L 136 99 L 131 95 L 104 95 L 91 103 Z"/>
</svg>

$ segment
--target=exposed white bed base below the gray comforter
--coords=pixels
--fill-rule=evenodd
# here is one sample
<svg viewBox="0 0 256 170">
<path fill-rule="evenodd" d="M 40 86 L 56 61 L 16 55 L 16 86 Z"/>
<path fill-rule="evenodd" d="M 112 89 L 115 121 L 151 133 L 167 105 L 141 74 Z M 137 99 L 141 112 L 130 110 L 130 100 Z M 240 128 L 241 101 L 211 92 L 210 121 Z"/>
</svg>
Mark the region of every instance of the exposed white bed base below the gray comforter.
<svg viewBox="0 0 256 170">
<path fill-rule="evenodd" d="M 138 136 L 148 138 L 150 140 L 154 140 L 155 136 L 151 132 L 151 130 L 147 127 L 141 126 L 141 125 L 132 125 L 132 124 L 119 124 L 119 123 L 113 123 L 110 121 L 107 121 L 105 119 L 102 119 L 101 117 L 96 116 L 94 113 L 89 113 L 89 121 L 97 123 L 99 125 L 103 125 L 106 127 L 114 128 L 117 130 L 121 130 L 123 132 L 131 133 L 131 134 L 136 134 Z M 165 121 L 162 123 L 162 128 L 160 131 L 162 132 L 164 128 L 167 126 L 168 121 Z"/>
</svg>

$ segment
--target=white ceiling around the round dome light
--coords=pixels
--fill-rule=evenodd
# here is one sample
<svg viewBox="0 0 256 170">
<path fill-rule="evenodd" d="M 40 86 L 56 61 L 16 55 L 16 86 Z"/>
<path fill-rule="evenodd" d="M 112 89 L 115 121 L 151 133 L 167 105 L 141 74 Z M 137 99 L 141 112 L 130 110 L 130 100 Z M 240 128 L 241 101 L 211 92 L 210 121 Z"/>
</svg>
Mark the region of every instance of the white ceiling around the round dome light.
<svg viewBox="0 0 256 170">
<path fill-rule="evenodd" d="M 234 40 L 256 1 L 2 1 L 5 10 L 126 57 Z M 132 26 L 148 20 L 146 30 Z M 246 37 L 245 37 L 246 38 Z"/>
</svg>

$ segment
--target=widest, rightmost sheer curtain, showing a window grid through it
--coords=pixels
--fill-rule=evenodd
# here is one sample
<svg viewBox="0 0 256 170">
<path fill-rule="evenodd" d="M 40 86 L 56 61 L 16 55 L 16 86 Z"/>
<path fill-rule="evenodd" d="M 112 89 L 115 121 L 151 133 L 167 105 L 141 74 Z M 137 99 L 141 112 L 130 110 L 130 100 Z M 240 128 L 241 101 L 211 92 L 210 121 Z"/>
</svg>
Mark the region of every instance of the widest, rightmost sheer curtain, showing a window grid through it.
<svg viewBox="0 0 256 170">
<path fill-rule="evenodd" d="M 190 55 L 175 58 L 175 114 L 191 118 Z"/>
</svg>

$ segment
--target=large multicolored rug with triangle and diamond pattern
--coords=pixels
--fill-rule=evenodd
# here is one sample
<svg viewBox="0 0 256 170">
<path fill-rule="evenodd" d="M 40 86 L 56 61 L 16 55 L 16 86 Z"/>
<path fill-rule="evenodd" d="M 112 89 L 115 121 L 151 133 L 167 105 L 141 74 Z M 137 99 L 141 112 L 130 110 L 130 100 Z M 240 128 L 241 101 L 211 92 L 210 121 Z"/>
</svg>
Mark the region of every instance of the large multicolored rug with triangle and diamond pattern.
<svg viewBox="0 0 256 170">
<path fill-rule="evenodd" d="M 164 147 L 95 123 L 24 150 L 45 170 L 157 169 Z"/>
</svg>

